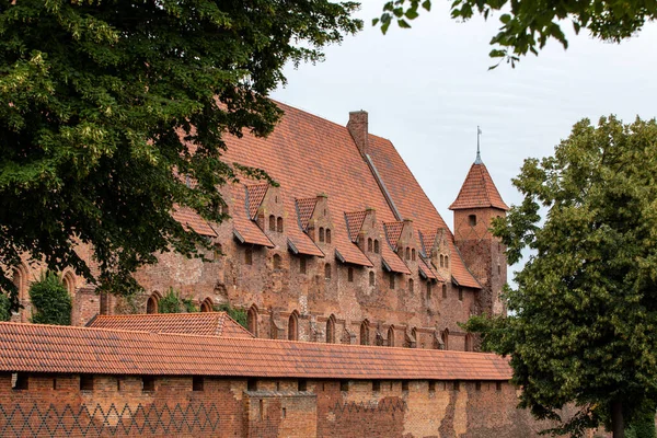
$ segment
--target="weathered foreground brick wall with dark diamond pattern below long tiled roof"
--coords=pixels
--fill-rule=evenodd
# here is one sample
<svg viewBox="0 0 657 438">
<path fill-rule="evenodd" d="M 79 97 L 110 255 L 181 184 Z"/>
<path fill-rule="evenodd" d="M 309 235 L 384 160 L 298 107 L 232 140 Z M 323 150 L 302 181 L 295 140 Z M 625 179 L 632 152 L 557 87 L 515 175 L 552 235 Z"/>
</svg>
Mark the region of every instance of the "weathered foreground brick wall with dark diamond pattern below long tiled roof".
<svg viewBox="0 0 657 438">
<path fill-rule="evenodd" d="M 0 374 L 2 437 L 530 438 L 550 426 L 516 408 L 508 383 Z M 304 384 L 304 387 L 302 387 Z M 602 434 L 598 433 L 600 436 Z M 592 431 L 589 434 L 592 437 Z"/>
</svg>

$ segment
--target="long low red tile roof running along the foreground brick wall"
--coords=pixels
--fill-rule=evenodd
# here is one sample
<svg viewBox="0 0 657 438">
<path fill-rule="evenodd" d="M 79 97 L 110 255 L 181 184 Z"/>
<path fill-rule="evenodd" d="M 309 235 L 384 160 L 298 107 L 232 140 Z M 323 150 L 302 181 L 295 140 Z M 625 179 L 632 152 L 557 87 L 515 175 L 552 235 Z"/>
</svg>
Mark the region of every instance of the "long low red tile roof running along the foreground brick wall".
<svg viewBox="0 0 657 438">
<path fill-rule="evenodd" d="M 497 380 L 492 354 L 0 323 L 0 371 L 308 379 Z"/>
</svg>

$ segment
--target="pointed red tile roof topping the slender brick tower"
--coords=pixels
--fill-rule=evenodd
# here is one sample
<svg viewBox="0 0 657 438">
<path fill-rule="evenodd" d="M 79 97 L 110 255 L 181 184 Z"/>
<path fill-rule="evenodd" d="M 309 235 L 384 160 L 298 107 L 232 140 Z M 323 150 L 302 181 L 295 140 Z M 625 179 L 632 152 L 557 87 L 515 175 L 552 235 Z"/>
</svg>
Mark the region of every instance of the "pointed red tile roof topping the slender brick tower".
<svg viewBox="0 0 657 438">
<path fill-rule="evenodd" d="M 488 173 L 486 166 L 481 163 L 474 163 L 465 176 L 465 182 L 461 186 L 461 192 L 457 200 L 449 206 L 450 210 L 460 210 L 465 208 L 499 208 L 508 210 L 509 207 L 502 200 L 497 187 Z"/>
</svg>

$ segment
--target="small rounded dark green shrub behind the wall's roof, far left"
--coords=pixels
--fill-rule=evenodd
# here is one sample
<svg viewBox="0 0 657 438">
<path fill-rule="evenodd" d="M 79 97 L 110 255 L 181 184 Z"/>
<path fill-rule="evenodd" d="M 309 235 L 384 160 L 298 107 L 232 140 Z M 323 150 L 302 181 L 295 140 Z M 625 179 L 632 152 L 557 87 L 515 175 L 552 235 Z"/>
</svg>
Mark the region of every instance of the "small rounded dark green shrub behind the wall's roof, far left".
<svg viewBox="0 0 657 438">
<path fill-rule="evenodd" d="M 30 301 L 33 323 L 71 325 L 71 296 L 57 274 L 42 274 L 30 287 Z"/>
</svg>

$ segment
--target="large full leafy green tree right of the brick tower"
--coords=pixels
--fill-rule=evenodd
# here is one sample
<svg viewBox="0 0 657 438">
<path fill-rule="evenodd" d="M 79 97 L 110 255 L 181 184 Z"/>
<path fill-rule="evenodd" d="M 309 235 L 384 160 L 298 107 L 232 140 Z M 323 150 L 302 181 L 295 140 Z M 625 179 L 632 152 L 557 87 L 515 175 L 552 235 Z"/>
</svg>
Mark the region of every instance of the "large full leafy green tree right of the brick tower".
<svg viewBox="0 0 657 438">
<path fill-rule="evenodd" d="M 494 221 L 510 264 L 532 254 L 505 291 L 510 315 L 466 328 L 510 356 L 520 406 L 561 420 L 558 431 L 604 424 L 622 437 L 655 406 L 656 158 L 655 119 L 584 119 L 553 157 L 525 161 L 514 180 L 522 203 Z M 558 416 L 566 404 L 573 418 Z"/>
</svg>

